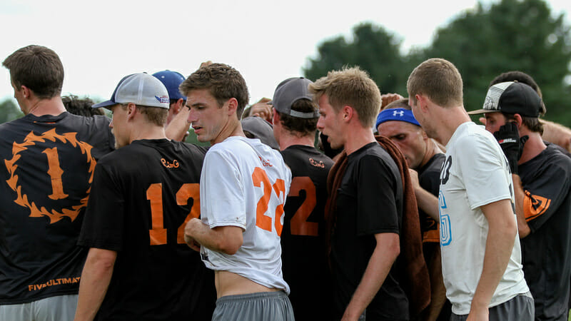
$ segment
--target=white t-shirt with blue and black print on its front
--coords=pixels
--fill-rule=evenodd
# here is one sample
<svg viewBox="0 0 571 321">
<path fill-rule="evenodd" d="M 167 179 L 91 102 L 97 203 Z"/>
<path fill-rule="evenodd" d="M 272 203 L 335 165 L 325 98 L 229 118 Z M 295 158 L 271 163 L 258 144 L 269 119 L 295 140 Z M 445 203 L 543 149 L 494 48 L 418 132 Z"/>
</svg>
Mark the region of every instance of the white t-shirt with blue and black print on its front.
<svg viewBox="0 0 571 321">
<path fill-rule="evenodd" d="M 452 311 L 466 315 L 482 274 L 489 228 L 480 206 L 505 199 L 513 205 L 512 177 L 494 136 L 471 121 L 458 126 L 446 150 L 438 197 L 443 276 Z M 529 290 L 521 261 L 520 239 L 516 235 L 510 261 L 490 307 Z"/>
</svg>

